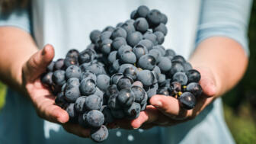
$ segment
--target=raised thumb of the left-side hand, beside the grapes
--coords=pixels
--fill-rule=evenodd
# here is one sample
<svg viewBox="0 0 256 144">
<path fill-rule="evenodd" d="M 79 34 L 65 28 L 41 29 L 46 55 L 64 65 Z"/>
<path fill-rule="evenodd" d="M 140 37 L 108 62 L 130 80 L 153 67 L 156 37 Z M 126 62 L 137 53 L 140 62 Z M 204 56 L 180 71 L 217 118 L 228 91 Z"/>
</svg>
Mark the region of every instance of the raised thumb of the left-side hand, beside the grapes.
<svg viewBox="0 0 256 144">
<path fill-rule="evenodd" d="M 54 49 L 50 44 L 46 44 L 42 50 L 34 53 L 30 59 L 27 60 L 23 67 L 23 72 L 27 76 L 27 81 L 34 81 L 43 72 L 46 71 L 46 67 L 50 64 L 54 57 Z"/>
</svg>

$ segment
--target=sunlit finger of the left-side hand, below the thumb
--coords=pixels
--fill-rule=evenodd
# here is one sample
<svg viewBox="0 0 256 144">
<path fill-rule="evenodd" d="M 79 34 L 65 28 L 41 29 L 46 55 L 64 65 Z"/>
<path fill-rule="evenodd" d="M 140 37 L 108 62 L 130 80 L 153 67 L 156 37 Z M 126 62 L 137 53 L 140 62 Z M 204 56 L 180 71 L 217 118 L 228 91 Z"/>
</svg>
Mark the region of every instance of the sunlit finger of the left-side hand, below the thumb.
<svg viewBox="0 0 256 144">
<path fill-rule="evenodd" d="M 38 93 L 43 93 L 44 90 L 37 91 Z M 53 95 L 43 95 L 40 97 L 35 96 L 32 99 L 36 109 L 37 114 L 43 119 L 49 120 L 53 123 L 66 123 L 69 121 L 69 114 L 66 110 L 55 105 Z"/>
</svg>

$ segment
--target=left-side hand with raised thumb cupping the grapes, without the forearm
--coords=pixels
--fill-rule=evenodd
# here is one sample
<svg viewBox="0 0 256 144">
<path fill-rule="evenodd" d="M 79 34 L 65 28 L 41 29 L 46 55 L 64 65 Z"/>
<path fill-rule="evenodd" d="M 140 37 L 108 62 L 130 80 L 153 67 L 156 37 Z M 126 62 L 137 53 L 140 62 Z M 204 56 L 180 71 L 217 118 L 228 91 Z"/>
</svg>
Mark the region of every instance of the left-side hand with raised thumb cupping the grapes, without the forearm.
<svg viewBox="0 0 256 144">
<path fill-rule="evenodd" d="M 78 124 L 67 123 L 69 114 L 54 102 L 54 95 L 40 82 L 40 75 L 53 60 L 54 49 L 51 45 L 34 53 L 22 66 L 22 88 L 28 95 L 39 117 L 53 123 L 60 123 L 66 131 L 78 136 L 88 137 L 89 131 Z"/>
</svg>

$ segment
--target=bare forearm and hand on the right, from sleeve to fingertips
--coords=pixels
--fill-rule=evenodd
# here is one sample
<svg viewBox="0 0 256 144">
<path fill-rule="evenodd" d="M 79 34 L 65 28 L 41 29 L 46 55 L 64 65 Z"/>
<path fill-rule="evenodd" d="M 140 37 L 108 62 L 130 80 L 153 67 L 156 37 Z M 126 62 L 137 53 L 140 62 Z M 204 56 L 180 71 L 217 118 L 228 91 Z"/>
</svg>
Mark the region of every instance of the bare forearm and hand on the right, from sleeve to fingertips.
<svg viewBox="0 0 256 144">
<path fill-rule="evenodd" d="M 138 118 L 117 121 L 113 127 L 149 129 L 152 126 L 173 126 L 193 120 L 208 104 L 242 78 L 248 58 L 242 46 L 235 40 L 227 37 L 211 37 L 200 43 L 191 56 L 190 63 L 200 72 L 199 83 L 203 88 L 203 94 L 197 98 L 194 109 L 181 108 L 176 98 L 154 95 L 149 101 L 151 105 L 147 106 Z"/>
</svg>

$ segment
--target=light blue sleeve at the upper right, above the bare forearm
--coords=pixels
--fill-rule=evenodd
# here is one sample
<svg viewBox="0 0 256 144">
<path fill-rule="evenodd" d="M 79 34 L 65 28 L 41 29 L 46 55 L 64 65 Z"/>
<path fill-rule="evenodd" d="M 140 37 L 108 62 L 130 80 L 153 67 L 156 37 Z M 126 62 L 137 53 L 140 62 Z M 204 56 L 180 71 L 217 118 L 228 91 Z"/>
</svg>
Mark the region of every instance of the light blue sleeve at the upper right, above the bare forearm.
<svg viewBox="0 0 256 144">
<path fill-rule="evenodd" d="M 209 37 L 229 37 L 249 55 L 248 21 L 252 0 L 202 0 L 196 46 Z"/>
</svg>

